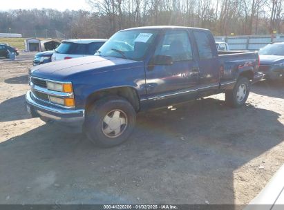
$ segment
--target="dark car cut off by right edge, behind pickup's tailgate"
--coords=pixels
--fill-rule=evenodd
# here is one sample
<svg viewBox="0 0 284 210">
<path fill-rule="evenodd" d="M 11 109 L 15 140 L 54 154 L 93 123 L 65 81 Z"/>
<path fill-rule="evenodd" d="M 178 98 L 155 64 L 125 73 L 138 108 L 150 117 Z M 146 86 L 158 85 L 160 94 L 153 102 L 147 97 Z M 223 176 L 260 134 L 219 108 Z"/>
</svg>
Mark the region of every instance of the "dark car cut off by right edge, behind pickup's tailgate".
<svg viewBox="0 0 284 210">
<path fill-rule="evenodd" d="M 265 79 L 284 78 L 284 42 L 268 44 L 258 52 L 260 57 L 259 70 Z"/>
</svg>

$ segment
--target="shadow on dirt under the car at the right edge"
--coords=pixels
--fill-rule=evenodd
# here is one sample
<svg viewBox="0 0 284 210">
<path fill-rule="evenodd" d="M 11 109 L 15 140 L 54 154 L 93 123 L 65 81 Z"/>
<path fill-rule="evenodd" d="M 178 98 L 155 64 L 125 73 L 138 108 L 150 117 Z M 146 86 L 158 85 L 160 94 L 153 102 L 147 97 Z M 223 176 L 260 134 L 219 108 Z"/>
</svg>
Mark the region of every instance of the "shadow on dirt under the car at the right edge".
<svg viewBox="0 0 284 210">
<path fill-rule="evenodd" d="M 284 79 L 276 81 L 263 80 L 257 82 L 252 86 L 252 93 L 284 99 Z"/>
</svg>

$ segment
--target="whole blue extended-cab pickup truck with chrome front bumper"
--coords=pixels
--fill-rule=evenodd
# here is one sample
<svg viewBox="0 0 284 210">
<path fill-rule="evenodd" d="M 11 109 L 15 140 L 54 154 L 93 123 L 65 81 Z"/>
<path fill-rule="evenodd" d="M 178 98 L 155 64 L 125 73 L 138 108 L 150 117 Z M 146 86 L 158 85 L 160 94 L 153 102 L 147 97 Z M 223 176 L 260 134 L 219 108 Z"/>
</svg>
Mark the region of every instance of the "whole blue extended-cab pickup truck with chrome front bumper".
<svg viewBox="0 0 284 210">
<path fill-rule="evenodd" d="M 245 104 L 258 53 L 220 52 L 207 29 L 153 26 L 120 30 L 97 56 L 30 69 L 26 106 L 32 117 L 84 131 L 100 146 L 124 142 L 136 113 L 225 93 Z"/>
</svg>

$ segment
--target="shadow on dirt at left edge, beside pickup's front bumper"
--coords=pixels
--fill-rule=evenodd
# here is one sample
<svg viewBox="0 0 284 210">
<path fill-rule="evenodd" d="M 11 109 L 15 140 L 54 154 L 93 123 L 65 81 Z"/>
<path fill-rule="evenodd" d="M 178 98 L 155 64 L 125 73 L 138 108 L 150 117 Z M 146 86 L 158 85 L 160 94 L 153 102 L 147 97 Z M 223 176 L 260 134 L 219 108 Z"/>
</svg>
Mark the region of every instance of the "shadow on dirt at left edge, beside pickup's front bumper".
<svg viewBox="0 0 284 210">
<path fill-rule="evenodd" d="M 0 122 L 29 119 L 25 107 L 25 95 L 7 99 L 0 104 Z"/>
</svg>

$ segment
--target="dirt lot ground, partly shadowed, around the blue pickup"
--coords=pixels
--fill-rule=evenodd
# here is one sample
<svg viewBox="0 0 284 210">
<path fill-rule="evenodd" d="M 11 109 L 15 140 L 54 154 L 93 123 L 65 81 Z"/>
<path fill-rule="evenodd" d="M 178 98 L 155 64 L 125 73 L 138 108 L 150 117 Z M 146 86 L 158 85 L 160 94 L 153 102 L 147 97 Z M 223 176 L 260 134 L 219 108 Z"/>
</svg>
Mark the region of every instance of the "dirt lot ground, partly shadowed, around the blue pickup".
<svg viewBox="0 0 284 210">
<path fill-rule="evenodd" d="M 1 204 L 247 204 L 284 164 L 284 82 L 238 109 L 220 94 L 140 113 L 128 142 L 100 149 L 30 118 L 32 56 L 0 59 Z"/>
</svg>

